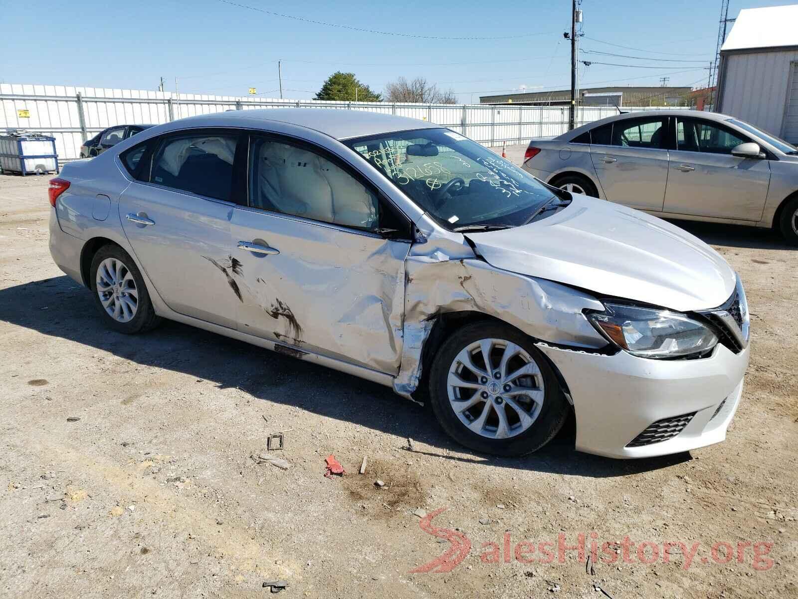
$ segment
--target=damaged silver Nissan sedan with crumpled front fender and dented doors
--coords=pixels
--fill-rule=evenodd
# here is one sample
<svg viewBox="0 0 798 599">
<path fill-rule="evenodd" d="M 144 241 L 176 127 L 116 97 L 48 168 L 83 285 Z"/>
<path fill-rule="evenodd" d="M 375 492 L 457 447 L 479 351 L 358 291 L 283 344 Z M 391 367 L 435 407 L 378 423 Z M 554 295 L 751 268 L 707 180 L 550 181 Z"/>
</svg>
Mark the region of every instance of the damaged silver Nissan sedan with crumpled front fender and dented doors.
<svg viewBox="0 0 798 599">
<path fill-rule="evenodd" d="M 147 129 L 52 180 L 50 251 L 124 333 L 192 324 L 429 403 L 473 450 L 725 438 L 741 282 L 643 212 L 550 187 L 450 129 L 322 109 Z M 410 431 L 408 431 L 410 432 Z"/>
</svg>

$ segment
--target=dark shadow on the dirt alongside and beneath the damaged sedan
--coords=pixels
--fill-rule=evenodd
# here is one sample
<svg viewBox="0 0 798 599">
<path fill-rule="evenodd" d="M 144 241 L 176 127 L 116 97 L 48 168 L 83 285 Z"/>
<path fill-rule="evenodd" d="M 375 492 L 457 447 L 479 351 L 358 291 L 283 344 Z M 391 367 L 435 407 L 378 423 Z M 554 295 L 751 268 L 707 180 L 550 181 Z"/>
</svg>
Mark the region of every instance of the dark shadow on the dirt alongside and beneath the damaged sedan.
<svg viewBox="0 0 798 599">
<path fill-rule="evenodd" d="M 428 409 L 387 387 L 172 321 L 144 335 L 122 335 L 105 328 L 95 310 L 90 292 L 66 276 L 0 290 L 0 319 L 19 327 L 142 365 L 184 372 L 215 382 L 220 389 L 239 387 L 257 399 L 412 437 L 435 448 L 425 454 L 442 459 L 596 478 L 657 470 L 690 459 L 689 454 L 678 454 L 614 460 L 580 453 L 574 450 L 573 419 L 543 450 L 527 458 L 469 453 L 440 430 Z"/>
</svg>

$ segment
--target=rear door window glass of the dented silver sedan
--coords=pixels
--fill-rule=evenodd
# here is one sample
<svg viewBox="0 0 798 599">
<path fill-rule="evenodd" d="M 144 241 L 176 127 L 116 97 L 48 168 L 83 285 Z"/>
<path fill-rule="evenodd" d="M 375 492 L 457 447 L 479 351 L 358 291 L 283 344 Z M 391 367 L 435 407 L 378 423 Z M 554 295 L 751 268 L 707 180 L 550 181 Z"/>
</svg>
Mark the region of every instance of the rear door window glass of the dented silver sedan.
<svg viewBox="0 0 798 599">
<path fill-rule="evenodd" d="M 204 134 L 168 137 L 152 162 L 151 182 L 217 200 L 230 200 L 237 138 Z"/>
</svg>

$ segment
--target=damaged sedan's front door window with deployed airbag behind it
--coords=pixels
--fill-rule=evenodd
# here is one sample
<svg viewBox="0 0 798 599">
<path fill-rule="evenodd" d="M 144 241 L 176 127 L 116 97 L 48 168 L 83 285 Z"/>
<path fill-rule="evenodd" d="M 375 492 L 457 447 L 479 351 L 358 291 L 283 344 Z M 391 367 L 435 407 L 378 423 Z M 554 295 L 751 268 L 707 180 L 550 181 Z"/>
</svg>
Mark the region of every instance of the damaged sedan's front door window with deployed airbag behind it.
<svg viewBox="0 0 798 599">
<path fill-rule="evenodd" d="M 257 138 L 250 161 L 252 207 L 368 231 L 379 227 L 377 197 L 321 153 Z"/>
</svg>

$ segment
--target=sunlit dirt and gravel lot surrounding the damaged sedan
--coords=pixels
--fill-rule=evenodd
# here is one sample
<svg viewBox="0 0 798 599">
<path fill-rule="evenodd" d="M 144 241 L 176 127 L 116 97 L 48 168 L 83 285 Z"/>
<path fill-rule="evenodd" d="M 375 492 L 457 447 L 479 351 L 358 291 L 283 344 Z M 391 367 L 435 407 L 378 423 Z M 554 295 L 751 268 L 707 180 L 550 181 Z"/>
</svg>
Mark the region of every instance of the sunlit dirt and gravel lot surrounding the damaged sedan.
<svg viewBox="0 0 798 599">
<path fill-rule="evenodd" d="M 798 251 L 772 233 L 684 224 L 753 312 L 726 442 L 624 462 L 575 452 L 571 426 L 496 459 L 372 383 L 176 323 L 106 330 L 50 259 L 45 188 L 0 176 L 0 595 L 798 597 Z M 250 457 L 279 430 L 290 470 Z M 331 453 L 345 477 L 322 476 Z M 456 545 L 413 514 L 441 508 Z M 559 561 L 560 534 L 598 545 L 595 573 L 577 549 Z"/>
</svg>

